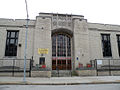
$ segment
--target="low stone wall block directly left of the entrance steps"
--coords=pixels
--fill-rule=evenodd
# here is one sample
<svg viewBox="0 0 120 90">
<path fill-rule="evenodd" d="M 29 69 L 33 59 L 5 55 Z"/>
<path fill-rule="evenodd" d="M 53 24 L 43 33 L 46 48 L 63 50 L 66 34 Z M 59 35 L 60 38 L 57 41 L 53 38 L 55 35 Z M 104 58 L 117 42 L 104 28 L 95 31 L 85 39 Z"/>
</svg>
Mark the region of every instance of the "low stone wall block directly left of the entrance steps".
<svg viewBox="0 0 120 90">
<path fill-rule="evenodd" d="M 31 71 L 31 77 L 51 77 L 51 71 Z"/>
</svg>

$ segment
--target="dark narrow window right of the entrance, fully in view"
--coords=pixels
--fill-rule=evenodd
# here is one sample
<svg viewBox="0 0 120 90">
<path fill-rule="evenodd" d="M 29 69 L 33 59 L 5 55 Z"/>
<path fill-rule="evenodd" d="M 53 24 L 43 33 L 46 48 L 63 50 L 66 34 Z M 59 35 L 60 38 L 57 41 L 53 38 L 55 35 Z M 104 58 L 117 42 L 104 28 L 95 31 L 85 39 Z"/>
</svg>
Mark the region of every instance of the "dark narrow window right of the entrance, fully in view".
<svg viewBox="0 0 120 90">
<path fill-rule="evenodd" d="M 110 44 L 110 34 L 101 34 L 102 36 L 102 49 L 103 57 L 111 57 L 111 44 Z"/>
</svg>

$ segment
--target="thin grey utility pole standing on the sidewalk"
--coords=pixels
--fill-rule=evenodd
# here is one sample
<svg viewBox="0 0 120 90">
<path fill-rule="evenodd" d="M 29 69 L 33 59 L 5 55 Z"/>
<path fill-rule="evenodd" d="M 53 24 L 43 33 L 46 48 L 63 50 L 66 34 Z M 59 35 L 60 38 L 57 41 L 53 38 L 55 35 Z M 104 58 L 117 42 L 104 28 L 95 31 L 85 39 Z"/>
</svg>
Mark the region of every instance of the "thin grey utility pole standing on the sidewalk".
<svg viewBox="0 0 120 90">
<path fill-rule="evenodd" d="M 27 22 L 26 22 L 26 31 L 25 31 L 25 50 L 24 50 L 24 78 L 23 78 L 24 82 L 26 82 L 26 50 L 27 50 L 27 35 L 28 35 L 28 22 L 29 22 L 27 0 L 25 0 L 25 5 L 26 5 Z"/>
</svg>

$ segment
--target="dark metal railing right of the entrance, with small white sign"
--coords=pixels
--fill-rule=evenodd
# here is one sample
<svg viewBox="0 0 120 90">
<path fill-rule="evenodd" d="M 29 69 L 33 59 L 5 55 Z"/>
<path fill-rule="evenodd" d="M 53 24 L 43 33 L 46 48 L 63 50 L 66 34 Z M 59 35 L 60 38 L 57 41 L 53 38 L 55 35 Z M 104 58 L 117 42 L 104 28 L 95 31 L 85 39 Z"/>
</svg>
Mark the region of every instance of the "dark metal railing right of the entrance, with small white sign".
<svg viewBox="0 0 120 90">
<path fill-rule="evenodd" d="M 120 59 L 95 59 L 91 60 L 91 66 L 98 72 L 108 71 L 111 75 L 112 71 L 120 71 Z"/>
</svg>

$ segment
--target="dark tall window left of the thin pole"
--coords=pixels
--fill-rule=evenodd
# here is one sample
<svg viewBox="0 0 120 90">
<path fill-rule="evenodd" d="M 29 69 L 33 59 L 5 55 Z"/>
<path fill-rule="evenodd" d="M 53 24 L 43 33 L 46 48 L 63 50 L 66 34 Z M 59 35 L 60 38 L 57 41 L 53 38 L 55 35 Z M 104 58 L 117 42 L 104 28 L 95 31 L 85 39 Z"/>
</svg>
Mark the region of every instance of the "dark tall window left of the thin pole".
<svg viewBox="0 0 120 90">
<path fill-rule="evenodd" d="M 18 31 L 7 31 L 5 56 L 17 56 Z"/>
</svg>

